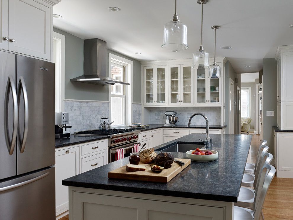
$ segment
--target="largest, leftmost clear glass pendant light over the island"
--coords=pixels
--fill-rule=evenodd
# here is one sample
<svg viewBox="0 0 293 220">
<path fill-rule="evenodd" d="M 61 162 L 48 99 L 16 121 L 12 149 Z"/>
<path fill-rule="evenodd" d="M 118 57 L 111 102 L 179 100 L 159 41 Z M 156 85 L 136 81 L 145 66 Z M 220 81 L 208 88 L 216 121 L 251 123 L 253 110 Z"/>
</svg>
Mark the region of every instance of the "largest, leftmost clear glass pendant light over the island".
<svg viewBox="0 0 293 220">
<path fill-rule="evenodd" d="M 187 27 L 179 22 L 177 15 L 177 0 L 175 0 L 175 14 L 173 19 L 164 25 L 163 48 L 178 52 L 188 49 L 187 46 Z"/>
</svg>

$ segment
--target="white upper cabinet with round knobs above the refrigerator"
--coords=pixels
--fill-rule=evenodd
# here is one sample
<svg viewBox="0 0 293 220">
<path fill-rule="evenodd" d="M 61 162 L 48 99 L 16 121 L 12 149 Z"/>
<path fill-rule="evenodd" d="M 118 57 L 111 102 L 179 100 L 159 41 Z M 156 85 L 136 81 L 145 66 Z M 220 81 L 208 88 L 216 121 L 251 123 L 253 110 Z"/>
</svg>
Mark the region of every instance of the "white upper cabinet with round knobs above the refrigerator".
<svg viewBox="0 0 293 220">
<path fill-rule="evenodd" d="M 59 1 L 0 1 L 0 49 L 51 60 L 53 5 Z"/>
</svg>

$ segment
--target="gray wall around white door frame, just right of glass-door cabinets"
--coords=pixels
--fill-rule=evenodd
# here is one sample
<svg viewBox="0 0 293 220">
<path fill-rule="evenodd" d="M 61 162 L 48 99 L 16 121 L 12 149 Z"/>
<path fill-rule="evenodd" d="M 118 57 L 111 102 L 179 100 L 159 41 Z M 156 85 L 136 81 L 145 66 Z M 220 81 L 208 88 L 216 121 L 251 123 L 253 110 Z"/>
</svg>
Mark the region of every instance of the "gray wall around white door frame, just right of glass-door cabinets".
<svg viewBox="0 0 293 220">
<path fill-rule="evenodd" d="M 235 78 L 238 77 L 238 83 L 235 82 Z M 232 67 L 229 61 L 225 64 L 225 121 L 226 121 L 226 133 L 229 133 L 230 129 L 230 110 L 229 110 L 229 93 L 230 93 L 230 78 L 235 82 L 234 83 L 234 91 L 235 91 L 235 101 L 237 101 L 237 85 L 241 85 L 241 74 L 236 74 L 234 68 Z M 240 87 L 240 86 L 239 86 Z M 237 106 L 235 106 L 235 114 L 234 114 L 234 133 L 237 134 Z"/>
</svg>

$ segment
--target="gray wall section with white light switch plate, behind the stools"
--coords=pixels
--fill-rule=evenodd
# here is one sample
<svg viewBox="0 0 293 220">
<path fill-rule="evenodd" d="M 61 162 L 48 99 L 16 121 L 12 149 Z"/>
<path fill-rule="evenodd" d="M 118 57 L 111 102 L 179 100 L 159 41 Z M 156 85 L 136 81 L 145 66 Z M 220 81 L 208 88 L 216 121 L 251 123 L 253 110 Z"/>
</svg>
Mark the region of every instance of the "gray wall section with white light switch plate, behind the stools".
<svg viewBox="0 0 293 220">
<path fill-rule="evenodd" d="M 277 126 L 277 61 L 263 59 L 263 139 L 267 140 L 268 152 L 274 152 L 273 126 Z M 272 98 L 273 97 L 273 98 Z M 266 111 L 274 111 L 274 116 L 266 116 Z M 274 155 L 275 156 L 275 155 Z"/>
</svg>

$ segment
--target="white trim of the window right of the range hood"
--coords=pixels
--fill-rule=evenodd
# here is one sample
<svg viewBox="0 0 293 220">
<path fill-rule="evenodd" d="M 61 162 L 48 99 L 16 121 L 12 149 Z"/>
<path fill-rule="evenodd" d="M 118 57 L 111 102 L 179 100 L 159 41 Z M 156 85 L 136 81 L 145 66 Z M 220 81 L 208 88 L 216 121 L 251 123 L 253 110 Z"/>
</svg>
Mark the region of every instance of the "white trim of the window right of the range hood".
<svg viewBox="0 0 293 220">
<path fill-rule="evenodd" d="M 130 85 L 126 85 L 125 87 L 125 96 L 130 97 L 125 99 L 125 125 L 130 125 L 132 121 L 132 88 L 133 88 L 133 61 L 125 59 L 123 57 L 117 56 L 115 54 L 109 53 L 109 76 L 111 76 L 111 63 L 112 60 L 117 61 L 119 63 L 123 63 L 125 66 L 127 66 L 126 70 L 128 71 L 125 75 L 125 81 L 130 83 Z M 109 86 L 109 121 L 111 122 L 111 88 Z M 118 126 L 112 126 L 112 127 L 121 127 L 121 125 Z"/>
</svg>

